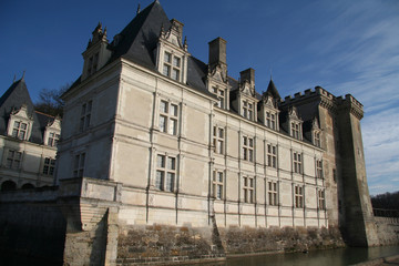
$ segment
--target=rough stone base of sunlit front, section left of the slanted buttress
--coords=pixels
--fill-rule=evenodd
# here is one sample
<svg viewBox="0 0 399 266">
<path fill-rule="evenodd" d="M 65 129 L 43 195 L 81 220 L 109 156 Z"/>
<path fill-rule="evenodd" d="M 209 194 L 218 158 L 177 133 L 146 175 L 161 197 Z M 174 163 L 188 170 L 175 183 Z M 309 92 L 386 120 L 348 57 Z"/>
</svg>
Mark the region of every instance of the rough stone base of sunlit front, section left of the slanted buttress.
<svg viewBox="0 0 399 266">
<path fill-rule="evenodd" d="M 212 227 L 120 226 L 117 265 L 224 257 Z"/>
</svg>

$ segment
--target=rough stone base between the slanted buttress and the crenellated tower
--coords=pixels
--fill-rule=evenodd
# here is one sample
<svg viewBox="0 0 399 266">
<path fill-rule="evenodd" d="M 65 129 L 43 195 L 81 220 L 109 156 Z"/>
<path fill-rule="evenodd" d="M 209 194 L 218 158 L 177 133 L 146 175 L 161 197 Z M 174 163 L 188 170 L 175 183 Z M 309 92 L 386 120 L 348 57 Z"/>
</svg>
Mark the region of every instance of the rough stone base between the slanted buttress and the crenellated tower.
<svg viewBox="0 0 399 266">
<path fill-rule="evenodd" d="M 266 252 L 305 252 L 344 247 L 337 227 L 221 228 L 226 255 Z"/>
</svg>

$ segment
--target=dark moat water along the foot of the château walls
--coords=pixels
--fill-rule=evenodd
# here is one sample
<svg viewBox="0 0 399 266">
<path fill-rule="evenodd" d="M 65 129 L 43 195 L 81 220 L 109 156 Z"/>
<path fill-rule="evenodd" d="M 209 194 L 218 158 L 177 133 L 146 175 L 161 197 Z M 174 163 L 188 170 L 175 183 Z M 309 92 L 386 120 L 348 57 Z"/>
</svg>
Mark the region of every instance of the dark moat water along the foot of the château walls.
<svg viewBox="0 0 399 266">
<path fill-rule="evenodd" d="M 383 247 L 348 247 L 340 249 L 317 250 L 309 253 L 291 253 L 291 254 L 270 254 L 262 256 L 246 256 L 237 258 L 227 258 L 223 263 L 204 263 L 201 266 L 223 265 L 223 266 L 346 266 L 367 262 L 370 259 L 399 255 L 399 246 Z M 62 262 L 43 262 L 23 256 L 11 256 L 1 254 L 1 266 L 57 266 Z M 192 265 L 192 264 L 190 264 Z"/>
</svg>

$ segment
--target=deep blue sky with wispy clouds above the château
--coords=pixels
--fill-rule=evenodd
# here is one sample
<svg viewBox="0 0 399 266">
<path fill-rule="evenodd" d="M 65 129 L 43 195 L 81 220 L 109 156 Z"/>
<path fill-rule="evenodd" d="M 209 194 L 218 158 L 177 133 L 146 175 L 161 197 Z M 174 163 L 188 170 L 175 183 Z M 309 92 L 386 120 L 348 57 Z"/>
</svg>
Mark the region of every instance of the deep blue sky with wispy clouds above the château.
<svg viewBox="0 0 399 266">
<path fill-rule="evenodd" d="M 110 41 L 150 0 L 0 2 L 0 93 L 23 71 L 33 101 L 73 82 L 99 21 Z M 228 73 L 256 71 L 280 95 L 316 85 L 365 106 L 361 121 L 370 194 L 399 191 L 399 1 L 161 0 L 184 25 L 188 51 L 207 62 L 207 42 L 227 41 Z"/>
</svg>

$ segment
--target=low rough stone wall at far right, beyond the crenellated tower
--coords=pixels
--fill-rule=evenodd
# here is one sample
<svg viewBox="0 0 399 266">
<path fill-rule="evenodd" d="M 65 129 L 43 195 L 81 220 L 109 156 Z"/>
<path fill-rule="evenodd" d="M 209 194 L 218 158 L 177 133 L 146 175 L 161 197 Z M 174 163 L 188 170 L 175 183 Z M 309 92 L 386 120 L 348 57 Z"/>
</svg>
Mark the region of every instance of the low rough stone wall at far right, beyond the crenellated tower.
<svg viewBox="0 0 399 266">
<path fill-rule="evenodd" d="M 375 217 L 380 245 L 399 245 L 399 218 Z"/>
</svg>

